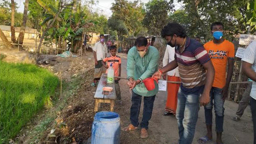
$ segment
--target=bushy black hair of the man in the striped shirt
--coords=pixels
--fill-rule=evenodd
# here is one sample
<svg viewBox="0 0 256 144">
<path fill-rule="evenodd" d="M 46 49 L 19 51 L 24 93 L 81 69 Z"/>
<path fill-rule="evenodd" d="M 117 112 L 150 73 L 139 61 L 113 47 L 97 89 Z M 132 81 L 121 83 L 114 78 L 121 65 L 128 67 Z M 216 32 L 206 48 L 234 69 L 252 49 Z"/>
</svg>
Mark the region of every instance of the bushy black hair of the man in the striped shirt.
<svg viewBox="0 0 256 144">
<path fill-rule="evenodd" d="M 169 22 L 161 31 L 162 38 L 165 38 L 165 36 L 173 36 L 174 34 L 178 37 L 186 37 L 185 29 L 177 22 Z"/>
</svg>

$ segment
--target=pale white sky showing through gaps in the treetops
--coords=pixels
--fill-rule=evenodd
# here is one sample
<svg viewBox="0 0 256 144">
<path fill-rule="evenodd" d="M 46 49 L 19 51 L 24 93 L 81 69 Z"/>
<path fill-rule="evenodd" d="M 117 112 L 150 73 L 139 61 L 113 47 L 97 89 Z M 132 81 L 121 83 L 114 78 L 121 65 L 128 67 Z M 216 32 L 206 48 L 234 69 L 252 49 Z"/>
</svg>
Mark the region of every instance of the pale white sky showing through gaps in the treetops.
<svg viewBox="0 0 256 144">
<path fill-rule="evenodd" d="M 10 1 L 10 0 L 9 0 Z M 25 0 L 14 0 L 16 3 L 18 3 L 18 12 L 24 11 L 24 2 Z M 135 1 L 135 0 L 129 0 L 129 1 Z M 143 3 L 147 3 L 149 0 L 140 0 Z M 2 0 L 0 0 L 0 3 Z M 109 18 L 112 15 L 112 12 L 110 10 L 110 7 L 112 6 L 112 3 L 114 3 L 115 0 L 98 0 L 98 4 L 93 6 L 93 11 L 97 12 L 100 15 L 105 15 L 107 18 Z M 174 9 L 179 9 L 183 4 L 178 3 L 177 0 L 174 0 Z"/>
</svg>

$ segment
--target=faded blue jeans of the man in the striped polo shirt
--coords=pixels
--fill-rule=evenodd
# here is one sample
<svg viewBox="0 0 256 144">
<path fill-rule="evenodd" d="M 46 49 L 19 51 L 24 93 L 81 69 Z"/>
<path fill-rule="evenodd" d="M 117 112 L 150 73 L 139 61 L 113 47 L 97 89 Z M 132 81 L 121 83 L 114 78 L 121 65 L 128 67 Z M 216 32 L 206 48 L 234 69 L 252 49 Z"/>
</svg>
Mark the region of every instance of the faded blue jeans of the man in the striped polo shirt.
<svg viewBox="0 0 256 144">
<path fill-rule="evenodd" d="M 201 93 L 185 94 L 178 92 L 176 118 L 179 128 L 179 144 L 191 144 L 195 134 L 195 126 L 199 111 Z"/>
</svg>

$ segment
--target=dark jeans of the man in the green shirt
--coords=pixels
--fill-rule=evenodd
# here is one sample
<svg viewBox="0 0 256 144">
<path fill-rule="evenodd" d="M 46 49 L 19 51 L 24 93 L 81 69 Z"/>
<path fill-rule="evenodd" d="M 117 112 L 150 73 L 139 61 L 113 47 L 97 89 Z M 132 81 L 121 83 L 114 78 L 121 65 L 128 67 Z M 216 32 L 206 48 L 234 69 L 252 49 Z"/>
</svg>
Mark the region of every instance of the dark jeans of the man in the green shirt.
<svg viewBox="0 0 256 144">
<path fill-rule="evenodd" d="M 141 97 L 142 96 L 132 91 L 132 106 L 130 120 L 131 124 L 135 127 L 139 125 L 138 115 L 140 114 Z M 156 96 L 144 97 L 143 117 L 140 123 L 141 128 L 148 128 L 149 120 L 152 116 L 155 97 Z"/>
</svg>

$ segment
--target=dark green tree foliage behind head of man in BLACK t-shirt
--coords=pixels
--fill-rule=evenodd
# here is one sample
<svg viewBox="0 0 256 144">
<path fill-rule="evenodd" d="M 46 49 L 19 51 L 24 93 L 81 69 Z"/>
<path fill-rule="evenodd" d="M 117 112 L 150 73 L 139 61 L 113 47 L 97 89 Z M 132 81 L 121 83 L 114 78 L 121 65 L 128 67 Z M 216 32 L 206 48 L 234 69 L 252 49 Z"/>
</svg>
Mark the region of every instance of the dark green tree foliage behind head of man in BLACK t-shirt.
<svg viewBox="0 0 256 144">
<path fill-rule="evenodd" d="M 179 0 L 181 1 L 181 0 Z M 188 35 L 199 36 L 204 42 L 212 39 L 210 25 L 219 21 L 225 25 L 225 37 L 234 40 L 238 33 L 245 33 L 247 21 L 252 18 L 247 9 L 252 0 L 183 0 L 185 12 L 188 15 Z M 255 11 L 255 10 L 253 10 Z M 251 31 L 253 32 L 253 29 Z"/>
</svg>

